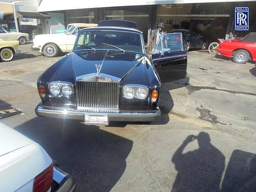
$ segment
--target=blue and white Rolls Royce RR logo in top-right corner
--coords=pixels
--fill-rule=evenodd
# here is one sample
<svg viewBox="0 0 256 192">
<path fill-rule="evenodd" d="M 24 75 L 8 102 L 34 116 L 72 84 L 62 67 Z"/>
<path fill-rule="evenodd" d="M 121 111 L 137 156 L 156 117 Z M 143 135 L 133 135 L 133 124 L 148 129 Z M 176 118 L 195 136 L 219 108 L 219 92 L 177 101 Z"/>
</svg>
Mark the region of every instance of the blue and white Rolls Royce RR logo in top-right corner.
<svg viewBox="0 0 256 192">
<path fill-rule="evenodd" d="M 235 30 L 248 31 L 249 30 L 249 8 L 235 7 Z"/>
</svg>

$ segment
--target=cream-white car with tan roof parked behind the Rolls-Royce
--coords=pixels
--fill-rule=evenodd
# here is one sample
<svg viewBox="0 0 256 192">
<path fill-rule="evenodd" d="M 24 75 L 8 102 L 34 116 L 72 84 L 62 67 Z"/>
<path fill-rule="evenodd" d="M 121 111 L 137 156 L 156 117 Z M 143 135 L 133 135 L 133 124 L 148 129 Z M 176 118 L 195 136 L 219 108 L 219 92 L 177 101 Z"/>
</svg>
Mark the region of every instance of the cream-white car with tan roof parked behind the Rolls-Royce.
<svg viewBox="0 0 256 192">
<path fill-rule="evenodd" d="M 98 26 L 98 24 L 76 23 L 64 33 L 36 35 L 31 49 L 43 52 L 46 57 L 55 57 L 59 51 L 71 52 L 78 32 L 83 28 L 94 26 Z"/>
</svg>

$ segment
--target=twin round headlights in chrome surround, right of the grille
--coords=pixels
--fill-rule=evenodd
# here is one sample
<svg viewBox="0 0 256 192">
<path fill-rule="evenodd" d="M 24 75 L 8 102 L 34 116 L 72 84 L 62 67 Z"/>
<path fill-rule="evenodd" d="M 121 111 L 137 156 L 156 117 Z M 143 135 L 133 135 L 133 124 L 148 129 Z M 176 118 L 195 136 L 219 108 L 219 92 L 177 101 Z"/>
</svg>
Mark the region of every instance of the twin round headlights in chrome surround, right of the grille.
<svg viewBox="0 0 256 192">
<path fill-rule="evenodd" d="M 123 87 L 123 96 L 126 99 L 137 98 L 140 100 L 148 96 L 148 87 L 144 85 L 128 84 Z"/>
</svg>

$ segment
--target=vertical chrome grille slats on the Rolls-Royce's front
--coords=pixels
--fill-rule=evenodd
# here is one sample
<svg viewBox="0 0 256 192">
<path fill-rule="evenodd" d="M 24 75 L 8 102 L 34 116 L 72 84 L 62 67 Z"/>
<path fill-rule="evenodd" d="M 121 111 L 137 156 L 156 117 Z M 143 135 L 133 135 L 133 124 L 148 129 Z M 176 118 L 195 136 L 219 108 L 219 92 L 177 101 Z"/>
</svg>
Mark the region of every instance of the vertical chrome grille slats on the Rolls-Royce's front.
<svg viewBox="0 0 256 192">
<path fill-rule="evenodd" d="M 118 112 L 119 83 L 76 82 L 77 108 L 84 112 Z"/>
</svg>

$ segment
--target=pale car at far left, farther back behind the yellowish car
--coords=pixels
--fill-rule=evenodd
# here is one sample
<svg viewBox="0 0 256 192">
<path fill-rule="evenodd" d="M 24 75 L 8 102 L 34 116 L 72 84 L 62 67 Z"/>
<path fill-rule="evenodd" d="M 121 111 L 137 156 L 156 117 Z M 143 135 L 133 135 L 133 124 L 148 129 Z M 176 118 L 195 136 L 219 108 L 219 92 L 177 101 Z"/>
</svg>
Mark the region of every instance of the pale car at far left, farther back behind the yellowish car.
<svg viewBox="0 0 256 192">
<path fill-rule="evenodd" d="M 27 33 L 8 32 L 3 27 L 0 27 L 0 39 L 18 40 L 20 42 L 20 45 L 26 44 L 27 40 L 29 40 Z"/>
</svg>

